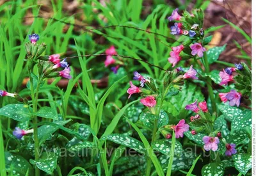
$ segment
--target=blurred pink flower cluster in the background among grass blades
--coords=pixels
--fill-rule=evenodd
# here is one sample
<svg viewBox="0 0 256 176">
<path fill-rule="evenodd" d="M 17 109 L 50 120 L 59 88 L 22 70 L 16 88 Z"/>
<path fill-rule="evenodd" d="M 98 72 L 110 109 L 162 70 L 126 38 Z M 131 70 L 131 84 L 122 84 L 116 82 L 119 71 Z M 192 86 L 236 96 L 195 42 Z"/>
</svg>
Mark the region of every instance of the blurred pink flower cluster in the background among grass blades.
<svg viewBox="0 0 256 176">
<path fill-rule="evenodd" d="M 117 54 L 116 49 L 113 45 L 111 45 L 111 47 L 106 49 L 106 54 L 107 54 L 107 57 L 106 57 L 106 60 L 104 61 L 104 65 L 105 65 L 105 67 L 112 65 L 111 70 L 114 74 L 116 74 L 118 69 L 122 65 L 124 65 L 124 63 L 122 62 L 122 60 L 120 58 L 118 58 L 118 60 L 115 60 L 113 58 L 113 55 L 115 56 Z"/>
</svg>

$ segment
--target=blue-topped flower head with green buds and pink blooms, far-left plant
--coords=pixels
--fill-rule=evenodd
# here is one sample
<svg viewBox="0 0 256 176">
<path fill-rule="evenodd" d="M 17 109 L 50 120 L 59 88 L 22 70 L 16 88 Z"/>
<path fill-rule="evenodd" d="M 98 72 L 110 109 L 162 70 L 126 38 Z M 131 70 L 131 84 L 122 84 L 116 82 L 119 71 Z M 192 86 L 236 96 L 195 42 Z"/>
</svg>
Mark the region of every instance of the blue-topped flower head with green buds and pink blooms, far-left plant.
<svg viewBox="0 0 256 176">
<path fill-rule="evenodd" d="M 51 56 L 40 56 L 46 49 L 44 43 L 37 44 L 39 36 L 37 34 L 29 35 L 30 43 L 25 44 L 29 69 L 38 63 L 38 73 L 45 77 L 65 77 L 71 79 L 70 67 L 65 59 L 60 58 L 60 54 L 52 54 Z"/>
</svg>

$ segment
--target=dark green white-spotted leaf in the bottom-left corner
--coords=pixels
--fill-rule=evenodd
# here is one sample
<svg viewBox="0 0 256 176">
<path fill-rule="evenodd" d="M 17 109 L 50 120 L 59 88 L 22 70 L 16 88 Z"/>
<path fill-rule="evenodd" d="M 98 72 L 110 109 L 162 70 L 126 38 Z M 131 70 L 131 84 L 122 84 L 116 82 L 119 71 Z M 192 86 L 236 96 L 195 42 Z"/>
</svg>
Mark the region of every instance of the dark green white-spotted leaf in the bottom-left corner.
<svg viewBox="0 0 256 176">
<path fill-rule="evenodd" d="M 10 175 L 26 175 L 27 170 L 32 173 L 32 167 L 24 157 L 10 152 L 4 152 L 5 165 L 7 172 L 12 172 Z"/>
</svg>

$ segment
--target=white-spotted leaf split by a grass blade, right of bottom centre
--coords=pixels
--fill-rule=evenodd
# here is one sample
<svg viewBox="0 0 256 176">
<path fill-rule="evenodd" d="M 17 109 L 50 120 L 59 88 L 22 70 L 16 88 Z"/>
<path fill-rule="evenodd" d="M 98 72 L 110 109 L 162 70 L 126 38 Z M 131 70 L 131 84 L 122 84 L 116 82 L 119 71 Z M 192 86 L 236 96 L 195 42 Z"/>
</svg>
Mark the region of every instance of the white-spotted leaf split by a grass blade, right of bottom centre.
<svg viewBox="0 0 256 176">
<path fill-rule="evenodd" d="M 152 143 L 152 148 L 161 152 L 166 156 L 170 156 L 170 151 L 172 147 L 172 140 L 157 140 Z M 179 157 L 182 155 L 183 149 L 179 141 L 175 142 L 175 156 Z"/>
</svg>

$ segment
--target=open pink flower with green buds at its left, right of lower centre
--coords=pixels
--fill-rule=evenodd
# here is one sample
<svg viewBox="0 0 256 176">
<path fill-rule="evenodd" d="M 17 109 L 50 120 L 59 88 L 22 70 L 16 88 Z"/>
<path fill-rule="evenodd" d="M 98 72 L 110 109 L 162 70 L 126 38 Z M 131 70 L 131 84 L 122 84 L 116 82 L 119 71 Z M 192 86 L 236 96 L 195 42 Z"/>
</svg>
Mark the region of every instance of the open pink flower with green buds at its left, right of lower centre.
<svg viewBox="0 0 256 176">
<path fill-rule="evenodd" d="M 184 132 L 189 130 L 189 125 L 186 124 L 185 120 L 182 119 L 177 125 L 164 125 L 159 129 L 161 134 L 166 139 L 172 138 L 172 131 L 175 132 L 175 138 L 183 138 Z"/>
</svg>

